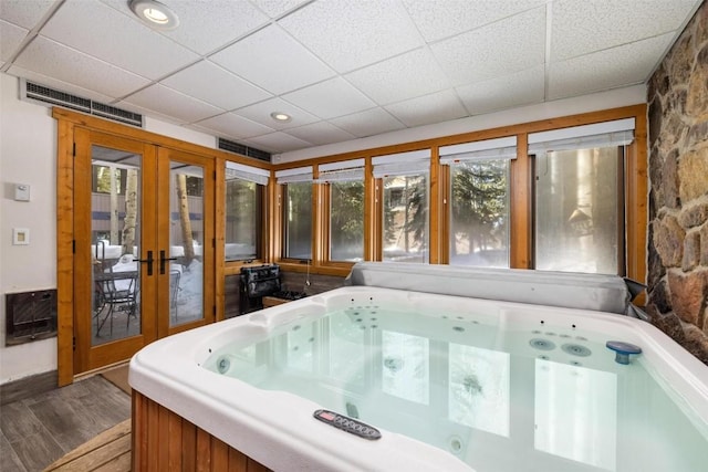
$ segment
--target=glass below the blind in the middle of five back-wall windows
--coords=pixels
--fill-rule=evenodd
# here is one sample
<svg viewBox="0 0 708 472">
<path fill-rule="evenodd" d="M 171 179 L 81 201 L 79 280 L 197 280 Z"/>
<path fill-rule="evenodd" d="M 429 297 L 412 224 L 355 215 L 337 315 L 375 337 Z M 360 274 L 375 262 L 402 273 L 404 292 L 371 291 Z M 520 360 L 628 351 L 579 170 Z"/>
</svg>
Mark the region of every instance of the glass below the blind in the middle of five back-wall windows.
<svg viewBox="0 0 708 472">
<path fill-rule="evenodd" d="M 384 186 L 384 261 L 428 262 L 428 174 L 392 176 Z"/>
</svg>

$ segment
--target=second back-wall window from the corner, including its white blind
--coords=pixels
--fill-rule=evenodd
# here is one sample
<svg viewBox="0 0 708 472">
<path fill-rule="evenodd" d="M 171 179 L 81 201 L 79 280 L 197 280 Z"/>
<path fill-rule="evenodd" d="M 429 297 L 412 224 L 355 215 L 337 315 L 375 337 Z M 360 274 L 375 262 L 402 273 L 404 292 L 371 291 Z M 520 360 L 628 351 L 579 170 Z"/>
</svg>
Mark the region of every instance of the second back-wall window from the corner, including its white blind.
<svg viewBox="0 0 708 472">
<path fill-rule="evenodd" d="M 317 183 L 327 186 L 330 261 L 364 259 L 364 159 L 323 164 Z"/>
</svg>

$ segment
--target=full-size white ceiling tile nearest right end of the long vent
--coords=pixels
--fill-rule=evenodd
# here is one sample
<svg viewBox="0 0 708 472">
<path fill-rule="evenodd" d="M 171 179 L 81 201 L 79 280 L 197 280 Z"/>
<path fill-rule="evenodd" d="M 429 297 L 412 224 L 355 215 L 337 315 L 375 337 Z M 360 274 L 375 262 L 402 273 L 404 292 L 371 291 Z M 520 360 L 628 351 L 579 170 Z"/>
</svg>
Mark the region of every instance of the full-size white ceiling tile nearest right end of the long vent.
<svg viewBox="0 0 708 472">
<path fill-rule="evenodd" d="M 181 123 L 199 122 L 225 111 L 198 101 L 183 93 L 155 84 L 144 88 L 125 99 L 125 103 L 154 109 L 171 116 Z"/>
</svg>

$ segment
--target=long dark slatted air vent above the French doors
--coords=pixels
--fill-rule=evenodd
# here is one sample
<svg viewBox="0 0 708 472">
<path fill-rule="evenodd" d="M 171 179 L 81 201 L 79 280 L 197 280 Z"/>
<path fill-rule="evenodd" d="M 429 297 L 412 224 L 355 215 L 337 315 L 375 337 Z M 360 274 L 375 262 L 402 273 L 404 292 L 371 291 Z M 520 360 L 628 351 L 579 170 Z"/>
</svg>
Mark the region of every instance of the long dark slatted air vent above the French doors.
<svg viewBox="0 0 708 472">
<path fill-rule="evenodd" d="M 114 122 L 125 123 L 126 125 L 143 127 L 143 115 L 138 113 L 116 108 L 115 106 L 45 87 L 24 78 L 20 81 L 20 99 L 62 106 L 102 118 L 113 119 Z"/>
</svg>

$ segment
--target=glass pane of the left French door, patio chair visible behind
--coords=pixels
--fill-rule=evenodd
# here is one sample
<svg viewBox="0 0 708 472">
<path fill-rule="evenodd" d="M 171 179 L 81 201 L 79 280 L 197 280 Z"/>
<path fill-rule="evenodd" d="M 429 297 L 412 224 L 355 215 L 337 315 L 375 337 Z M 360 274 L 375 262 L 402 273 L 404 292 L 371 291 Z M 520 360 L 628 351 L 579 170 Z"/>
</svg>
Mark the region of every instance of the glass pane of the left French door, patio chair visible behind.
<svg viewBox="0 0 708 472">
<path fill-rule="evenodd" d="M 97 346 L 142 333 L 142 156 L 91 146 L 92 338 Z"/>
</svg>

